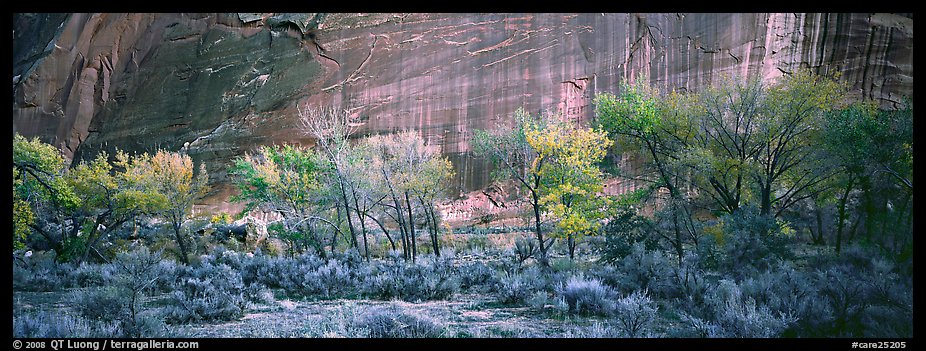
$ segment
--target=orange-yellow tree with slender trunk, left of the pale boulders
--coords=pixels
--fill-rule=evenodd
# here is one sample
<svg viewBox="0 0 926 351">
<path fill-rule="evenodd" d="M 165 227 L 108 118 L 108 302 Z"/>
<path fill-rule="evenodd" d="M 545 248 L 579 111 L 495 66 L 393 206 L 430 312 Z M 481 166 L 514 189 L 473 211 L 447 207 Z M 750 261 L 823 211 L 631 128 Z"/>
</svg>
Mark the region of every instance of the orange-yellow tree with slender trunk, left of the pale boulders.
<svg viewBox="0 0 926 351">
<path fill-rule="evenodd" d="M 189 264 L 190 252 L 181 229 L 190 217 L 193 204 L 209 191 L 206 165 L 201 163 L 199 171 L 195 172 L 190 156 L 158 150 L 154 155 L 144 153 L 133 157 L 122 166 L 131 183 L 165 197 L 166 205 L 157 214 L 170 222 L 180 247 L 180 262 Z"/>
</svg>

